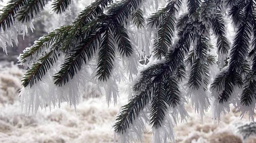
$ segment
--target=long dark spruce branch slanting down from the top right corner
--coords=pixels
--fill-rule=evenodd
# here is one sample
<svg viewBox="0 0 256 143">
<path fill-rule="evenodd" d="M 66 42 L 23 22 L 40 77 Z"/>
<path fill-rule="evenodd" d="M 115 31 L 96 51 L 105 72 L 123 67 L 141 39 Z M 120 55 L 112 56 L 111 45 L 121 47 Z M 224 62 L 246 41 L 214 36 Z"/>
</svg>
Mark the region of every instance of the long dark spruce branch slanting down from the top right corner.
<svg viewBox="0 0 256 143">
<path fill-rule="evenodd" d="M 248 55 L 249 41 L 253 30 L 250 16 L 252 11 L 247 8 L 251 7 L 251 4 L 250 0 L 247 2 L 237 1 L 230 10 L 232 19 L 235 25 L 238 26 L 238 31 L 230 51 L 229 67 L 225 73 L 224 86 L 219 89 L 221 91 L 219 94 L 219 103 L 228 101 L 234 90 L 233 86 L 238 86 L 239 88 L 243 87 L 242 74 L 249 72 L 249 65 L 245 61 Z M 216 88 L 216 85 L 219 85 L 217 83 L 220 83 L 219 81 L 220 79 L 218 77 L 215 78 L 212 87 L 215 86 Z"/>
</svg>

